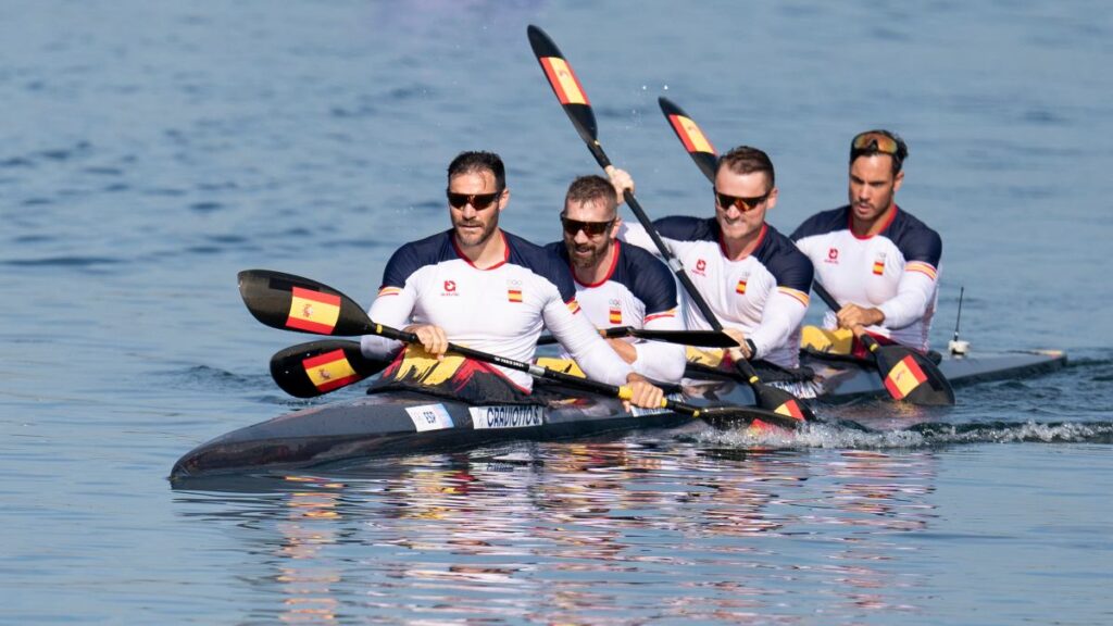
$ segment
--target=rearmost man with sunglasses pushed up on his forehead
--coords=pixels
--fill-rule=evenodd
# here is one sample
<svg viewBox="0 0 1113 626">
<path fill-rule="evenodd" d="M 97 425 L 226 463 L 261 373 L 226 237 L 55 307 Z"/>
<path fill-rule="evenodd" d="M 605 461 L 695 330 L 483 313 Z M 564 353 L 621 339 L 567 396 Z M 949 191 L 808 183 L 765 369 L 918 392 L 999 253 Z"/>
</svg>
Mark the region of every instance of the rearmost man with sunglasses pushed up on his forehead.
<svg viewBox="0 0 1113 626">
<path fill-rule="evenodd" d="M 847 206 L 818 213 L 792 233 L 835 300 L 829 329 L 855 330 L 927 351 L 938 299 L 943 241 L 896 204 L 908 147 L 888 130 L 869 130 L 850 145 Z"/>
</svg>

